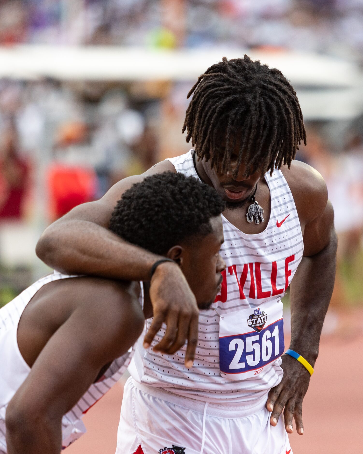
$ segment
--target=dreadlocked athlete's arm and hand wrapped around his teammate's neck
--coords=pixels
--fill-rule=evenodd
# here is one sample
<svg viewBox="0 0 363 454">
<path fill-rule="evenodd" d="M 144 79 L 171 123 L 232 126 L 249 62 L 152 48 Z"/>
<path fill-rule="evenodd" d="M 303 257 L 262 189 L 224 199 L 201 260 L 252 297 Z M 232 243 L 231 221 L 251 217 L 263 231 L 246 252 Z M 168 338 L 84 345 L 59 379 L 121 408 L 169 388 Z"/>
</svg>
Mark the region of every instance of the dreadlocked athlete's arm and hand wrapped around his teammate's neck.
<svg viewBox="0 0 363 454">
<path fill-rule="evenodd" d="M 166 171 L 176 172 L 170 161 L 162 161 L 142 175 L 125 178 L 97 202 L 75 207 L 44 231 L 36 247 L 38 257 L 66 274 L 148 281 L 152 265 L 162 257 L 123 241 L 108 230 L 108 223 L 116 202 L 133 183 Z M 154 318 L 145 336 L 145 348 L 151 345 L 165 322 L 165 336 L 154 349 L 171 354 L 187 340 L 185 365 L 191 367 L 198 339 L 199 311 L 178 266 L 165 262 L 157 267 L 151 280 L 150 299 Z"/>
</svg>

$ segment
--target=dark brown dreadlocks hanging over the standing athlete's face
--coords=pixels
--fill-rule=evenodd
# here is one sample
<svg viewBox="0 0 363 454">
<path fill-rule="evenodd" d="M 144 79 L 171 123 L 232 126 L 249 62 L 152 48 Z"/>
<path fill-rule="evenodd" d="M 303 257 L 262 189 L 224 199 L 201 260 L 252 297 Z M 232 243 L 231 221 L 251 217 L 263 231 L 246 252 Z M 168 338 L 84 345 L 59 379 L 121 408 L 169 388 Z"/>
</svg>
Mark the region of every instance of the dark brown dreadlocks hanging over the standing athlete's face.
<svg viewBox="0 0 363 454">
<path fill-rule="evenodd" d="M 231 154 L 240 138 L 238 166 L 245 175 L 289 167 L 301 140 L 306 145 L 303 115 L 296 92 L 279 69 L 259 60 L 227 60 L 198 77 L 182 132 L 191 139 L 198 159 L 211 160 L 221 173 L 231 169 Z M 222 144 L 226 143 L 226 146 Z"/>
</svg>

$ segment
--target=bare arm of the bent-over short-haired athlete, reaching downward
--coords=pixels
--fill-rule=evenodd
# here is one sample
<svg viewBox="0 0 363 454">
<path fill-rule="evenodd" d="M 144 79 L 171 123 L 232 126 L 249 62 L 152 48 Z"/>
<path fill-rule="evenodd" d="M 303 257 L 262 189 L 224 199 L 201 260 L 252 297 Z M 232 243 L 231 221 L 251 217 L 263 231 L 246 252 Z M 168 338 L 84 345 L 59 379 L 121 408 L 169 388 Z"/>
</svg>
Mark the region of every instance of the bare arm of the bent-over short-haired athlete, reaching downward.
<svg viewBox="0 0 363 454">
<path fill-rule="evenodd" d="M 116 282 L 108 288 L 100 300 L 96 287 L 94 300 L 77 307 L 60 326 L 10 401 L 5 419 L 9 454 L 59 454 L 62 416 L 101 368 L 141 334 L 141 307 L 136 307 L 140 313 L 129 309 L 138 305 L 135 296 Z"/>
</svg>

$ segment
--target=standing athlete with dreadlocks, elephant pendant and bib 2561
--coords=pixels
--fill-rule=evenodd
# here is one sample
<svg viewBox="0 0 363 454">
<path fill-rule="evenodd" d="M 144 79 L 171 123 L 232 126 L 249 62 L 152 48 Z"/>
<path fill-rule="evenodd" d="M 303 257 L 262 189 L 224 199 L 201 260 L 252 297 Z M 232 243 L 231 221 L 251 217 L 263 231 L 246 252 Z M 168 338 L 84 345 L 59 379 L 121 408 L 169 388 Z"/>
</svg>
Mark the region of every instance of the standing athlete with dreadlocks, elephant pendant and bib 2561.
<svg viewBox="0 0 363 454">
<path fill-rule="evenodd" d="M 177 267 L 157 268 L 144 345 L 155 340 L 152 350 L 137 346 L 117 452 L 290 453 L 287 433 L 294 419 L 303 434 L 302 401 L 334 284 L 333 209 L 321 176 L 293 162 L 305 130 L 296 93 L 279 70 L 247 56 L 224 58 L 191 94 L 183 130 L 195 150 L 146 174 L 192 175 L 222 195 L 227 268 L 197 334 Z M 119 182 L 50 226 L 39 256 L 71 273 L 147 280 L 156 257 L 104 228 L 120 192 L 142 178 Z M 93 242 L 96 235 L 103 240 Z M 280 299 L 291 280 L 292 335 L 283 355 Z M 177 351 L 186 338 L 187 348 Z"/>
</svg>

